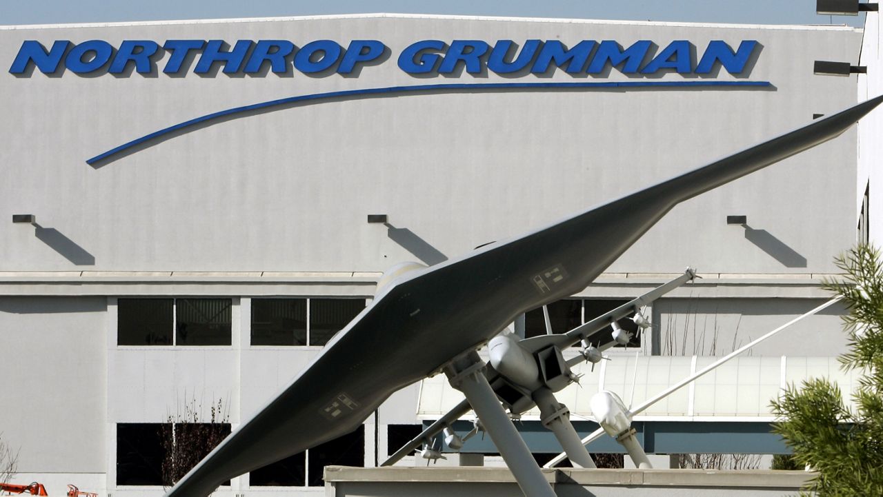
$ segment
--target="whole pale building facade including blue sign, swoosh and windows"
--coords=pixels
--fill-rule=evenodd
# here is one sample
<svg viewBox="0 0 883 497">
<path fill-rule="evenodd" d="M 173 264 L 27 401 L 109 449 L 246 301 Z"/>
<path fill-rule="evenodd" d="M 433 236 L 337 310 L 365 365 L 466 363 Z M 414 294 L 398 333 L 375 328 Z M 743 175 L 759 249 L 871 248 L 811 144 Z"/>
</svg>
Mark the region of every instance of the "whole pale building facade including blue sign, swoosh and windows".
<svg viewBox="0 0 883 497">
<path fill-rule="evenodd" d="M 21 448 L 16 481 L 161 494 L 155 451 L 132 447 L 155 447 L 170 419 L 208 422 L 218 403 L 215 420 L 235 428 L 386 268 L 447 260 L 844 109 L 857 76 L 813 63 L 859 49 L 876 54 L 846 26 L 387 14 L 0 26 L 0 432 Z M 859 145 L 878 143 L 860 136 L 676 207 L 555 307 L 553 328 L 688 265 L 704 278 L 653 305 L 646 355 L 728 352 L 818 305 L 856 240 L 871 175 Z M 834 356 L 841 312 L 754 353 Z M 323 464 L 393 452 L 390 426 L 420 423 L 418 396 L 393 395 L 347 441 L 354 452 L 308 452 L 218 494 L 321 492 Z"/>
</svg>

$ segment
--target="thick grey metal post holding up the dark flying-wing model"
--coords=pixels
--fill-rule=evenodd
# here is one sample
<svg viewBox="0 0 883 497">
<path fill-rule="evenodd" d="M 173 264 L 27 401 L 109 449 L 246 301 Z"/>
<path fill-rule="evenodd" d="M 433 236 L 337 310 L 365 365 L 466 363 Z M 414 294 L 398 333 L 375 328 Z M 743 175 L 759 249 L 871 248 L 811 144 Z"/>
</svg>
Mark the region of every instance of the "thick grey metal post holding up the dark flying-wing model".
<svg viewBox="0 0 883 497">
<path fill-rule="evenodd" d="M 485 431 L 491 436 L 494 445 L 509 471 L 527 497 L 555 497 L 555 491 L 540 471 L 540 466 L 518 435 L 512 420 L 506 415 L 502 404 L 481 373 L 484 363 L 473 350 L 445 365 L 444 372 L 448 375 L 450 385 L 466 395 L 472 410 L 478 415 Z"/>
</svg>

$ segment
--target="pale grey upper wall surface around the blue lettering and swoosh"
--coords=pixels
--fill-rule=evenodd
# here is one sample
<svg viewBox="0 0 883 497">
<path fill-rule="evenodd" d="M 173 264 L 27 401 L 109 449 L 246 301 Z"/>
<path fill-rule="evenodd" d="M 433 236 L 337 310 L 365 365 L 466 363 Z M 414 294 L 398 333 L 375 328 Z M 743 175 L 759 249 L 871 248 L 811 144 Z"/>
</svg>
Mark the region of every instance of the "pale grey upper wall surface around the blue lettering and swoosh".
<svg viewBox="0 0 883 497">
<path fill-rule="evenodd" d="M 343 16 L 0 28 L 0 61 L 25 40 L 352 39 L 394 55 L 358 75 L 85 77 L 0 73 L 0 270 L 377 271 L 442 260 L 553 222 L 856 102 L 855 79 L 812 75 L 854 58 L 843 26 L 708 26 L 549 19 Z M 87 158 L 222 109 L 299 94 L 444 82 L 600 79 L 494 73 L 417 78 L 413 41 L 687 39 L 762 46 L 731 89 L 414 94 L 293 106 L 201 126 L 93 168 Z M 165 54 L 166 58 L 169 54 Z M 585 75 L 584 75 L 585 76 Z M 676 73 L 661 76 L 683 81 Z M 668 215 L 611 268 L 666 273 L 828 273 L 854 232 L 855 132 Z M 825 199 L 825 201 L 819 201 Z M 367 224 L 388 214 L 391 227 Z M 734 229 L 726 215 L 747 215 Z M 675 269 L 677 268 L 677 269 Z"/>
</svg>

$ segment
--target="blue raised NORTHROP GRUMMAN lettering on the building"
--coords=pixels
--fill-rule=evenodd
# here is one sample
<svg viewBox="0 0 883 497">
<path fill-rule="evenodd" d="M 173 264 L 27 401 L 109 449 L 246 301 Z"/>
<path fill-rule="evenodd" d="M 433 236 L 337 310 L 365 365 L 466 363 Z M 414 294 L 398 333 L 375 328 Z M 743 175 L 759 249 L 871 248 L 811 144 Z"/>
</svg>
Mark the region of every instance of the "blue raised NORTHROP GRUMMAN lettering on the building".
<svg viewBox="0 0 883 497">
<path fill-rule="evenodd" d="M 623 48 L 617 41 L 583 40 L 568 47 L 562 41 L 527 40 L 516 44 L 499 40 L 423 40 L 396 54 L 399 69 L 408 74 L 544 74 L 561 69 L 571 75 L 604 75 L 610 68 L 623 74 L 651 76 L 661 72 L 710 74 L 722 67 L 740 74 L 758 46 L 745 40 L 733 49 L 726 41 L 710 41 L 698 56 L 690 41 L 671 41 L 660 47 L 641 40 Z M 310 41 L 302 47 L 286 40 L 239 40 L 232 46 L 223 40 L 126 40 L 115 46 L 108 41 L 81 43 L 59 40 L 49 49 L 40 41 L 22 43 L 9 72 L 28 75 L 34 67 L 45 74 L 71 71 L 77 74 L 132 72 L 208 74 L 223 67 L 226 74 L 284 74 L 292 68 L 306 74 L 351 74 L 369 65 L 385 64 L 389 48 L 382 41 L 353 40 L 344 49 L 331 40 Z M 195 63 L 195 64 L 193 64 Z M 133 71 L 130 72 L 130 69 Z"/>
</svg>

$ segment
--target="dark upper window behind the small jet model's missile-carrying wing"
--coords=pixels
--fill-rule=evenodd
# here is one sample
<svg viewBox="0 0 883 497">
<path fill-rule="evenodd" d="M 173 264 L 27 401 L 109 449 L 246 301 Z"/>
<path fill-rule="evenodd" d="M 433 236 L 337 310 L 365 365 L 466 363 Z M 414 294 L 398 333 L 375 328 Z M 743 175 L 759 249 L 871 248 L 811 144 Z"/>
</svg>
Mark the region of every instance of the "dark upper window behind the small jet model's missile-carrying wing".
<svg viewBox="0 0 883 497">
<path fill-rule="evenodd" d="M 608 313 L 620 305 L 627 304 L 628 300 L 608 300 L 603 298 L 568 298 L 558 300 L 547 305 L 549 323 L 553 333 L 567 333 L 573 328 L 593 320 L 603 313 Z M 634 335 L 629 342 L 629 347 L 641 345 L 640 336 L 637 335 L 638 325 L 630 317 L 616 321 L 624 330 Z M 537 307 L 525 313 L 525 338 L 546 335 L 546 319 L 543 316 L 543 308 Z M 605 337 L 605 342 L 612 340 Z M 621 345 L 617 345 L 621 347 Z"/>
</svg>

